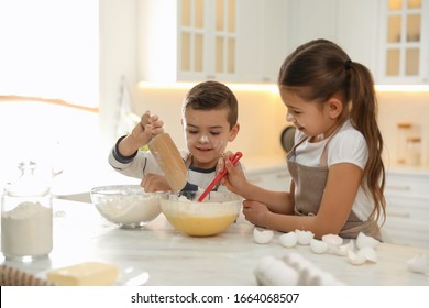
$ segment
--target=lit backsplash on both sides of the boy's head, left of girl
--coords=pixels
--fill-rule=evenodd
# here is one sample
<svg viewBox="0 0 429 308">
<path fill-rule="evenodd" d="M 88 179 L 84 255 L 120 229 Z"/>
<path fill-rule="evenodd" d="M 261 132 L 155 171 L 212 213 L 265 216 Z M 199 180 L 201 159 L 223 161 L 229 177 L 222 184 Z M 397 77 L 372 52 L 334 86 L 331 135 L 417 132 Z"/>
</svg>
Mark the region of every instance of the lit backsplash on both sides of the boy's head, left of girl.
<svg viewBox="0 0 429 308">
<path fill-rule="evenodd" d="M 134 111 L 138 114 L 142 114 L 145 110 L 158 114 L 165 121 L 165 131 L 182 148 L 185 148 L 180 122 L 182 103 L 189 88 L 141 87 L 139 99 L 134 102 Z M 284 155 L 279 140 L 282 130 L 287 124 L 286 108 L 275 86 L 272 87 L 273 89 L 263 90 L 235 89 L 233 85 L 230 85 L 230 88 L 239 101 L 241 129 L 229 150 L 242 151 L 248 158 Z"/>
</svg>

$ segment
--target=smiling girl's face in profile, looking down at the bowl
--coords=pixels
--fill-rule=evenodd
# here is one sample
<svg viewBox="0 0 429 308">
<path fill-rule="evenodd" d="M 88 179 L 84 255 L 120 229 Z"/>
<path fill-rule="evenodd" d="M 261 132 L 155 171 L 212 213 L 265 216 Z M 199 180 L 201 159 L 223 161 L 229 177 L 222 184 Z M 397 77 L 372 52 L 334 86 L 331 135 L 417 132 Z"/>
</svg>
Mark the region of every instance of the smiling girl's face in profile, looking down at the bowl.
<svg viewBox="0 0 429 308">
<path fill-rule="evenodd" d="M 287 107 L 286 120 L 293 122 L 306 136 L 323 135 L 328 138 L 337 129 L 338 110 L 337 106 L 332 109 L 331 100 L 320 106 L 316 101 L 306 101 L 286 89 L 280 89 L 280 97 Z"/>
</svg>

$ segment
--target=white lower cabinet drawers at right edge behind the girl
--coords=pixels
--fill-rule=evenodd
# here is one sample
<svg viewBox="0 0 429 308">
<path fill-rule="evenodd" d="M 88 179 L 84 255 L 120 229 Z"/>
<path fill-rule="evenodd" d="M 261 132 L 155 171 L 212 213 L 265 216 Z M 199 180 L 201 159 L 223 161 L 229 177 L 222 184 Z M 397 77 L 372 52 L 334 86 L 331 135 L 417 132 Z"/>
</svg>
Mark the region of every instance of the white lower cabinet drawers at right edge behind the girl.
<svg viewBox="0 0 429 308">
<path fill-rule="evenodd" d="M 385 241 L 429 248 L 429 174 L 388 173 L 385 197 Z"/>
</svg>

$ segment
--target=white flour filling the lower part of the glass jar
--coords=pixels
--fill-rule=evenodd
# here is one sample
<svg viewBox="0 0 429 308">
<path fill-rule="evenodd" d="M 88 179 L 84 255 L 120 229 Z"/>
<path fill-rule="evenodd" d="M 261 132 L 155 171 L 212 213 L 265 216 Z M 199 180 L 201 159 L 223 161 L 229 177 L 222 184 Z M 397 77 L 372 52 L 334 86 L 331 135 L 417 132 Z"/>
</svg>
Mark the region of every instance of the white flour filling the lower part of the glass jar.
<svg viewBox="0 0 429 308">
<path fill-rule="evenodd" d="M 52 251 L 52 208 L 22 202 L 1 215 L 1 250 L 6 257 L 44 256 Z"/>
</svg>

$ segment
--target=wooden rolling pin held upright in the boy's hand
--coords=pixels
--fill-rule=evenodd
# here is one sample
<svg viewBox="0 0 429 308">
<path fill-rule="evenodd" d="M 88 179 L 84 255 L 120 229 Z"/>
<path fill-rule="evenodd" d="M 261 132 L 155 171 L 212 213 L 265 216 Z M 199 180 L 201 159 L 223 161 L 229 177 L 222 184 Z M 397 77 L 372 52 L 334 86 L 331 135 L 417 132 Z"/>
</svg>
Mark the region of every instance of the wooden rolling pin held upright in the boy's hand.
<svg viewBox="0 0 429 308">
<path fill-rule="evenodd" d="M 148 142 L 148 150 L 165 174 L 172 190 L 180 191 L 187 182 L 185 162 L 168 133 L 162 133 Z"/>
</svg>

